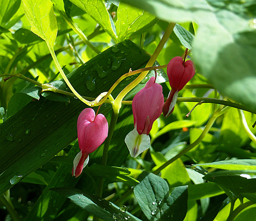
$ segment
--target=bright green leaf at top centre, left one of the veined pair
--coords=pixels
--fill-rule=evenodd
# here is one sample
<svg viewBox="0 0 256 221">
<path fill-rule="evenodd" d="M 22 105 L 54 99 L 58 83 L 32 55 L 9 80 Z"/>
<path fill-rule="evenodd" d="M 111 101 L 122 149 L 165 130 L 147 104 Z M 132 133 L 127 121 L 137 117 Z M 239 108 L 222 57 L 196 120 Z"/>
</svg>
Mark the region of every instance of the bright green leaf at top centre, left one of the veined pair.
<svg viewBox="0 0 256 221">
<path fill-rule="evenodd" d="M 102 0 L 70 0 L 90 15 L 117 42 L 114 22 Z"/>
</svg>

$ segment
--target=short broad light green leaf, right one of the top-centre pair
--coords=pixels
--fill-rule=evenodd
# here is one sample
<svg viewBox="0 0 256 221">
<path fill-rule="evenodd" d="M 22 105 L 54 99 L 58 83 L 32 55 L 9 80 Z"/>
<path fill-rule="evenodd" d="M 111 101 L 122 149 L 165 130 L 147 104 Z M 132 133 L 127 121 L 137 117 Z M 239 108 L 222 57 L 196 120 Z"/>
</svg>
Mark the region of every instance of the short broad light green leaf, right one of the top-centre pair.
<svg viewBox="0 0 256 221">
<path fill-rule="evenodd" d="M 117 37 L 119 41 L 130 38 L 131 36 L 142 34 L 151 28 L 157 19 L 148 12 L 119 3 L 117 9 Z"/>
</svg>

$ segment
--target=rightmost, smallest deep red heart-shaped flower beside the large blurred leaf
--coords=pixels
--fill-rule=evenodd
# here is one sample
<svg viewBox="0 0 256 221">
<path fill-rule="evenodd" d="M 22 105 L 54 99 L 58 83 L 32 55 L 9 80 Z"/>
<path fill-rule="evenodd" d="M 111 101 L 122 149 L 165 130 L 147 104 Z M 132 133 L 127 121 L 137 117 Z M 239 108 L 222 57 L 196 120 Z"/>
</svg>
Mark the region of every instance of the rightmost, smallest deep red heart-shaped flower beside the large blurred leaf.
<svg viewBox="0 0 256 221">
<path fill-rule="evenodd" d="M 185 56 L 186 58 L 186 56 Z M 171 86 L 171 91 L 163 105 L 163 116 L 168 117 L 174 110 L 178 92 L 191 80 L 195 74 L 193 62 L 185 62 L 182 57 L 174 57 L 167 65 L 167 75 Z"/>
</svg>

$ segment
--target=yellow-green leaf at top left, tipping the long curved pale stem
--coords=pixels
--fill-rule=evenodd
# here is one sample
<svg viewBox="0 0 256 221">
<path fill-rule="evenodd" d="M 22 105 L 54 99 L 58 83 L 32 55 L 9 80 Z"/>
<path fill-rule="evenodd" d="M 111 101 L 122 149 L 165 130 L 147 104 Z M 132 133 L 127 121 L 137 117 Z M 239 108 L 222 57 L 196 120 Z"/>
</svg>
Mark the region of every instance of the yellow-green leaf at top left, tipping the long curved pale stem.
<svg viewBox="0 0 256 221">
<path fill-rule="evenodd" d="M 53 48 L 57 36 L 57 20 L 50 0 L 22 0 L 31 31 Z"/>
</svg>

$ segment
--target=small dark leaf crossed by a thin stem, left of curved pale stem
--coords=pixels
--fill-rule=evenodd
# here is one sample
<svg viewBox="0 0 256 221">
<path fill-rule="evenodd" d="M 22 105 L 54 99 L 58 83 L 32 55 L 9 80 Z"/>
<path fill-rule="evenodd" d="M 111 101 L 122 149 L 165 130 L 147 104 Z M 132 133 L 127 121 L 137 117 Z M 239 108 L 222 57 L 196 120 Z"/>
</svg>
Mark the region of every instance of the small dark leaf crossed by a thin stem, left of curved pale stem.
<svg viewBox="0 0 256 221">
<path fill-rule="evenodd" d="M 65 83 L 62 81 L 53 81 L 49 84 L 56 87 L 57 89 L 64 90 L 64 91 L 67 90 Z M 69 97 L 67 95 L 55 93 L 53 91 L 44 91 L 41 95 L 48 100 L 59 101 L 59 102 L 69 102 Z"/>
</svg>

